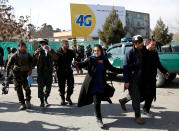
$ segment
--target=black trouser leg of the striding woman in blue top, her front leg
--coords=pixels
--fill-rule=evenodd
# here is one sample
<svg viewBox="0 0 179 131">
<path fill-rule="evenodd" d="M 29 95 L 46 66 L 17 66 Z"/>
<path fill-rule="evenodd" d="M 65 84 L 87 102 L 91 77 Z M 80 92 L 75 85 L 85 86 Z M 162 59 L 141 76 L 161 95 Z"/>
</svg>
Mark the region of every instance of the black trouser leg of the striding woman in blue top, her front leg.
<svg viewBox="0 0 179 131">
<path fill-rule="evenodd" d="M 93 102 L 94 102 L 94 113 L 97 119 L 101 120 L 101 97 L 102 94 L 94 93 L 93 94 Z"/>
</svg>

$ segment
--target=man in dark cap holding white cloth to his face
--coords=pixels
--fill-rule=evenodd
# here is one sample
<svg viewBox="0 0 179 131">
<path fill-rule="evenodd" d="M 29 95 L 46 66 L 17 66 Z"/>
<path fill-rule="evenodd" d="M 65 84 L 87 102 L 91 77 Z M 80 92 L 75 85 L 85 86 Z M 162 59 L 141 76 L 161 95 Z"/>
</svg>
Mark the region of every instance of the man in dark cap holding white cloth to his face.
<svg viewBox="0 0 179 131">
<path fill-rule="evenodd" d="M 38 98 L 40 98 L 40 107 L 48 105 L 48 97 L 51 92 L 53 62 L 57 60 L 57 55 L 53 49 L 48 46 L 48 40 L 40 41 L 41 47 L 37 49 L 33 55 L 34 66 L 37 65 L 37 83 L 38 83 Z M 45 92 L 44 92 L 44 87 Z M 45 102 L 45 103 L 44 103 Z"/>
</svg>

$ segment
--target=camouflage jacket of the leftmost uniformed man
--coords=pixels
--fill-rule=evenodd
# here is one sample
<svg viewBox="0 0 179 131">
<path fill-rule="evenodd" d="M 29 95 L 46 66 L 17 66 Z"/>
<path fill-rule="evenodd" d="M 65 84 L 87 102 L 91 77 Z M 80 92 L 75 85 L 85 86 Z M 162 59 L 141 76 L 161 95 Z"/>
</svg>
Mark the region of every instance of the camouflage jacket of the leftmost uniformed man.
<svg viewBox="0 0 179 131">
<path fill-rule="evenodd" d="M 7 73 L 8 77 L 11 67 L 13 66 L 13 71 L 16 72 L 29 72 L 32 70 L 33 58 L 29 53 L 22 54 L 17 51 L 13 54 L 7 62 Z"/>
</svg>

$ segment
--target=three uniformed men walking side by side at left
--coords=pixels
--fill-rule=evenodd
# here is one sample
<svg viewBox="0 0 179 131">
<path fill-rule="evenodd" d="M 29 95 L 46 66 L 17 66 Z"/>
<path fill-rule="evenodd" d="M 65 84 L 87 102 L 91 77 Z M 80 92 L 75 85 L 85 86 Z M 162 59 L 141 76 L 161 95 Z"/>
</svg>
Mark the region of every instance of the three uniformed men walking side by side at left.
<svg viewBox="0 0 179 131">
<path fill-rule="evenodd" d="M 32 69 L 37 66 L 38 98 L 40 107 L 48 106 L 48 97 L 52 86 L 53 67 L 56 67 L 61 104 L 72 105 L 71 95 L 74 88 L 74 77 L 72 61 L 76 58 L 75 53 L 69 49 L 67 40 L 62 41 L 62 47 L 55 52 L 48 46 L 48 40 L 40 41 L 41 47 L 35 51 L 33 56 L 27 53 L 25 43 L 18 45 L 18 51 L 8 60 L 6 66 L 6 80 L 9 79 L 10 70 L 13 70 L 15 90 L 20 110 L 31 108 L 31 90 L 28 86 L 27 77 L 31 75 Z M 13 66 L 13 67 L 12 67 Z M 65 84 L 67 82 L 67 95 L 65 99 Z M 24 98 L 23 88 L 26 99 Z"/>
</svg>

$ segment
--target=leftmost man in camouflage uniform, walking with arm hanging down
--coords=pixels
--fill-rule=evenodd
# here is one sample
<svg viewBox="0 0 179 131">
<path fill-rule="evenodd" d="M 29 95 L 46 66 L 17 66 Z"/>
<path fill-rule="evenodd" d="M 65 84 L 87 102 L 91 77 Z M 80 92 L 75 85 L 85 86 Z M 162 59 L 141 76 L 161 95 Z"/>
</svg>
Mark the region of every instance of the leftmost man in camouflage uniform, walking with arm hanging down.
<svg viewBox="0 0 179 131">
<path fill-rule="evenodd" d="M 21 104 L 20 110 L 25 110 L 26 108 L 31 108 L 30 99 L 31 99 L 31 90 L 28 86 L 27 77 L 28 74 L 32 71 L 32 56 L 26 52 L 26 44 L 20 43 L 18 45 L 18 51 L 8 60 L 7 63 L 7 74 L 6 80 L 8 80 L 9 72 L 11 67 L 13 67 L 14 74 L 14 85 L 15 90 L 17 91 L 17 96 L 19 98 L 19 103 Z M 26 99 L 24 99 L 23 90 L 25 90 Z M 26 101 L 26 104 L 25 104 Z"/>
</svg>

